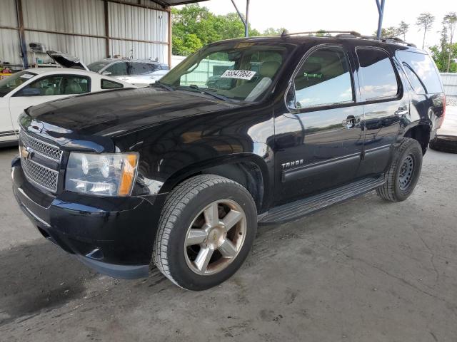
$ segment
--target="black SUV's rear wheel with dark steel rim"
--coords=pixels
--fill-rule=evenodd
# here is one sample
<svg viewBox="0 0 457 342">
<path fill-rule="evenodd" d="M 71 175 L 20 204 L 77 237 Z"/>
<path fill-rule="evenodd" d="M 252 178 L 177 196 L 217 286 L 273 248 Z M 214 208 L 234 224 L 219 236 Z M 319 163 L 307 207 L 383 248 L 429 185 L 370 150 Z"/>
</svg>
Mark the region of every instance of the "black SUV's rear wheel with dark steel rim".
<svg viewBox="0 0 457 342">
<path fill-rule="evenodd" d="M 408 165 L 411 165 L 410 172 Z M 422 148 L 417 140 L 402 138 L 393 152 L 391 167 L 384 176 L 386 182 L 376 189 L 378 196 L 391 202 L 401 202 L 407 199 L 417 185 L 422 168 Z M 409 175 L 409 177 L 408 177 Z M 403 176 L 403 177 L 401 177 Z"/>
</svg>

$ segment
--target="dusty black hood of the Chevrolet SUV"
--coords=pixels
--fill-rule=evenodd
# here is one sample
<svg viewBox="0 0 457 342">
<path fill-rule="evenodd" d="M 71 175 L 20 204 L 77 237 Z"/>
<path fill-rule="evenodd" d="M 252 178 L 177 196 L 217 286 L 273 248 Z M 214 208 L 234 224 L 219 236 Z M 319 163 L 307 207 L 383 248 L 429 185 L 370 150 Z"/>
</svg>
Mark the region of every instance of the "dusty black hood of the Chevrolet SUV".
<svg viewBox="0 0 457 342">
<path fill-rule="evenodd" d="M 64 98 L 28 108 L 27 114 L 35 123 L 59 128 L 63 134 L 114 137 L 166 120 L 238 106 L 199 93 L 151 87 Z"/>
</svg>

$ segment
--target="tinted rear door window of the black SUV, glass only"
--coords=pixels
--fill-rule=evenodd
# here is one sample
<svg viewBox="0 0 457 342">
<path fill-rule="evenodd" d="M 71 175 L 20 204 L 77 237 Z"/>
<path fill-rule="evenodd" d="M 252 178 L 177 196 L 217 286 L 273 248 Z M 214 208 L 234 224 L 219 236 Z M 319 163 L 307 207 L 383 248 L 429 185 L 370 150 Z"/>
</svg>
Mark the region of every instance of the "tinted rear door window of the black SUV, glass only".
<svg viewBox="0 0 457 342">
<path fill-rule="evenodd" d="M 398 83 L 391 59 L 376 48 L 357 48 L 360 63 L 361 93 L 366 100 L 388 98 L 398 93 Z"/>
</svg>

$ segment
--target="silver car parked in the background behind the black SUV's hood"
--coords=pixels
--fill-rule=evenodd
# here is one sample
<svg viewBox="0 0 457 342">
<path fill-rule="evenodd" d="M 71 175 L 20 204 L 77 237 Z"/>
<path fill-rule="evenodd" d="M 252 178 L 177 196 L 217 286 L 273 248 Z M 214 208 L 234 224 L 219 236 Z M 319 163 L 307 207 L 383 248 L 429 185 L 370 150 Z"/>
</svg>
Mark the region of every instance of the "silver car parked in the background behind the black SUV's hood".
<svg viewBox="0 0 457 342">
<path fill-rule="evenodd" d="M 132 83 L 136 86 L 154 83 L 170 70 L 169 66 L 164 63 L 129 58 L 106 58 L 90 63 L 87 67 L 90 71 L 119 78 L 121 81 Z"/>
</svg>

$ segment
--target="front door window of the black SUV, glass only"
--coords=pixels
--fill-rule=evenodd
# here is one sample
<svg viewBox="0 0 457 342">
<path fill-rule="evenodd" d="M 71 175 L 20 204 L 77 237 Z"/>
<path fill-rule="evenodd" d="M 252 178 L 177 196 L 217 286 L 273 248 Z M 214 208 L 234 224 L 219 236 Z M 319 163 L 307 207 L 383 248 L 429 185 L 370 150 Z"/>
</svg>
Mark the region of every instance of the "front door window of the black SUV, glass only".
<svg viewBox="0 0 457 342">
<path fill-rule="evenodd" d="M 296 108 L 353 100 L 346 53 L 321 48 L 306 58 L 294 79 Z"/>
</svg>

